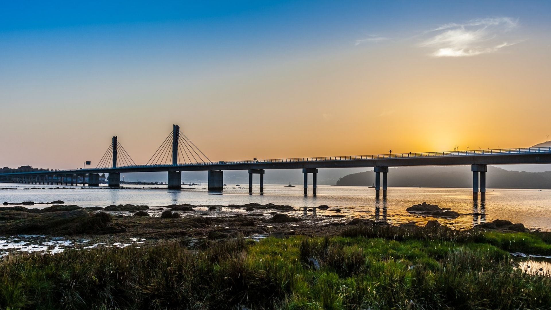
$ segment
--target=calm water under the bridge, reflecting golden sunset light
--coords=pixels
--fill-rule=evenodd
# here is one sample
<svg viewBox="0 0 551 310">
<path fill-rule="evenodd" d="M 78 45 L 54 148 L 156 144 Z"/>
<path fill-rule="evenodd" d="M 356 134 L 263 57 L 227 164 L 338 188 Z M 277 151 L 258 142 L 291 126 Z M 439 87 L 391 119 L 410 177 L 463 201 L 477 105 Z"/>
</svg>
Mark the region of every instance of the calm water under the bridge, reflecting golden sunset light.
<svg viewBox="0 0 551 310">
<path fill-rule="evenodd" d="M 56 187 L 57 185 L 53 186 Z M 206 185 L 184 186 L 182 190 L 168 190 L 166 185 L 125 185 L 123 189 L 74 188 L 72 189 L 31 189 L 51 188 L 52 185 L 0 184 L 0 188 L 17 188 L 17 190 L 0 190 L 0 203 L 7 202 L 50 202 L 63 200 L 66 205 L 82 207 L 111 204 L 135 204 L 148 206 L 166 206 L 170 204 L 242 205 L 250 202 L 259 204 L 290 205 L 296 208 L 289 215 L 302 216 L 302 207 L 317 207 L 328 205 L 329 210 L 317 210 L 316 216 L 325 221 L 349 221 L 354 217 L 370 218 L 371 220 L 387 221 L 393 225 L 415 221 L 420 225 L 429 220 L 439 220 L 441 223 L 455 228 L 471 228 L 495 219 L 509 220 L 513 223 L 523 223 L 526 228 L 551 231 L 551 190 L 528 189 L 489 189 L 485 204 L 473 204 L 471 189 L 450 188 L 389 188 L 386 200 L 375 199 L 375 190 L 363 186 L 328 186 L 320 185 L 317 196 L 304 196 L 301 185 L 285 187 L 284 185 L 264 185 L 264 195 L 260 195 L 258 185 L 249 189 L 237 188 L 228 184 L 224 193 L 209 193 Z M 63 186 L 60 186 L 63 187 Z M 144 187 L 147 187 L 144 189 Z M 73 189 L 74 188 L 74 189 Z M 440 207 L 451 208 L 459 212 L 460 217 L 449 220 L 444 218 L 422 217 L 410 215 L 406 208 L 426 201 Z M 27 207 L 42 208 L 48 205 Z M 335 209 L 342 211 L 337 213 Z M 207 207 L 197 208 L 197 211 L 185 213 L 198 215 L 206 212 Z M 243 210 L 228 210 L 230 212 L 245 212 Z M 224 208 L 215 215 L 224 215 Z M 474 215 L 473 215 L 474 213 Z M 343 215 L 343 218 L 329 217 Z M 309 212 L 311 216 L 311 212 Z"/>
</svg>

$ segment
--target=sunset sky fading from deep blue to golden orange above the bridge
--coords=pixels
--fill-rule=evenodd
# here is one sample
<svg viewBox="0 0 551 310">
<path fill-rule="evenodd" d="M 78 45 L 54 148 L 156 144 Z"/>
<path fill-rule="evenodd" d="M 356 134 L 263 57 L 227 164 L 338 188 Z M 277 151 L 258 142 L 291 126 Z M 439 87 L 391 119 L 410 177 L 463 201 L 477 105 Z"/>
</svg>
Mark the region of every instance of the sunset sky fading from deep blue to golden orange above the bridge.
<svg viewBox="0 0 551 310">
<path fill-rule="evenodd" d="M 11 1 L 0 166 L 529 147 L 551 134 L 549 1 Z"/>
</svg>

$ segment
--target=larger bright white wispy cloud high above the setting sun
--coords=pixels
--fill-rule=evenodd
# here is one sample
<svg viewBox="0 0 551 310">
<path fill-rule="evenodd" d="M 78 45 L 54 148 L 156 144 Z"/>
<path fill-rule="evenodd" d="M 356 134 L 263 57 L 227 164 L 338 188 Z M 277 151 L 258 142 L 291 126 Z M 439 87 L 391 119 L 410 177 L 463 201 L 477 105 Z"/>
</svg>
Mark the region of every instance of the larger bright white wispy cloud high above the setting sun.
<svg viewBox="0 0 551 310">
<path fill-rule="evenodd" d="M 518 20 L 509 17 L 474 19 L 469 22 L 449 23 L 423 34 L 427 37 L 421 47 L 435 49 L 431 56 L 464 57 L 490 54 L 503 47 L 517 44 L 512 30 L 518 28 Z"/>
</svg>

